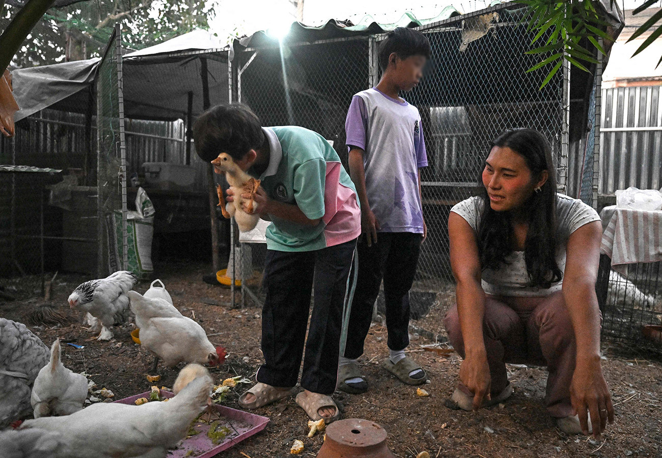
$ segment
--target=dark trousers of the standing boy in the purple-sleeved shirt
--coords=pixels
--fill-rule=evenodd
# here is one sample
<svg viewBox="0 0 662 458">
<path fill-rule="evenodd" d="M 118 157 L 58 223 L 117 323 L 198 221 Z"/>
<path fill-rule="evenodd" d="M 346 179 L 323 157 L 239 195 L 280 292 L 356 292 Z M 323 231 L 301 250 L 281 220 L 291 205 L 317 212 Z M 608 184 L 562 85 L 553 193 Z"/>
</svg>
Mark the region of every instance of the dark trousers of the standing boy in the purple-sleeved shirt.
<svg viewBox="0 0 662 458">
<path fill-rule="evenodd" d="M 412 232 L 378 232 L 377 243 L 367 246 L 365 238 L 359 238 L 359 275 L 350 312 L 345 357 L 354 359 L 363 354 L 363 342 L 370 328 L 382 279 L 389 349 L 402 350 L 409 345 L 409 290 L 414 283 L 422 240 L 422 234 Z"/>
</svg>

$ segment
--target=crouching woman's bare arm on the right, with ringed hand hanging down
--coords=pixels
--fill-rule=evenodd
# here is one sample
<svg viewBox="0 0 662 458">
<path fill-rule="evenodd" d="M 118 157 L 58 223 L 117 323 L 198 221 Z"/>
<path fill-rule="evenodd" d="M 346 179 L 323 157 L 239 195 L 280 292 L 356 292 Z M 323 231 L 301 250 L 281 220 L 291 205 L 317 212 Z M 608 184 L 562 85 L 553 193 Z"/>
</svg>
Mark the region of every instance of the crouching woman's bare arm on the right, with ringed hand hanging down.
<svg viewBox="0 0 662 458">
<path fill-rule="evenodd" d="M 601 237 L 599 221 L 575 230 L 568 240 L 563 273 L 563 298 L 577 344 L 571 402 L 584 434 L 588 434 L 587 411 L 591 413 L 596 437 L 604 431 L 607 420 L 614 422 L 614 406 L 600 365 L 600 309 L 595 294 Z"/>
</svg>

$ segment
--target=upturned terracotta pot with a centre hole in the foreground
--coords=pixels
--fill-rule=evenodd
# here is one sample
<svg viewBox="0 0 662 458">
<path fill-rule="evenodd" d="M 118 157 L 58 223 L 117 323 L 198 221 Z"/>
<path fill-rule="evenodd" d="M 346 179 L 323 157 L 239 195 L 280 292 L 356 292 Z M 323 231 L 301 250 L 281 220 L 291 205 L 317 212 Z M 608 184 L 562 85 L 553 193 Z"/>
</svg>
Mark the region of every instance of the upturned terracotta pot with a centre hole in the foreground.
<svg viewBox="0 0 662 458">
<path fill-rule="evenodd" d="M 369 420 L 348 418 L 326 427 L 317 458 L 395 458 L 386 446 L 386 431 Z"/>
</svg>

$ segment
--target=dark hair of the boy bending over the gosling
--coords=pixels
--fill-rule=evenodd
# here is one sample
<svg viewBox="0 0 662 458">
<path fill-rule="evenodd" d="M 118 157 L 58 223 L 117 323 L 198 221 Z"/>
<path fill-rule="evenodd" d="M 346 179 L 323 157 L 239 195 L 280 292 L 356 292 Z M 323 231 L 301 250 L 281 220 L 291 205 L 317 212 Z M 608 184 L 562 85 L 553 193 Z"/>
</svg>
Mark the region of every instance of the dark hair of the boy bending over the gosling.
<svg viewBox="0 0 662 458">
<path fill-rule="evenodd" d="M 195 152 L 207 162 L 221 153 L 240 160 L 266 141 L 260 118 L 241 103 L 222 103 L 205 111 L 193 124 L 193 139 Z"/>
</svg>

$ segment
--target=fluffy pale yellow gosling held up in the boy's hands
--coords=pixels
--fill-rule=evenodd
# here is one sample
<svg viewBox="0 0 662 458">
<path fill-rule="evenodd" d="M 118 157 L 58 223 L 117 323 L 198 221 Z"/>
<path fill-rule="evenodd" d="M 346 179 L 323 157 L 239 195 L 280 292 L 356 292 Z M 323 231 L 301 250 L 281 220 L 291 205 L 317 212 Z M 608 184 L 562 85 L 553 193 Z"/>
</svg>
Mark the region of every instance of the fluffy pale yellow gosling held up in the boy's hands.
<svg viewBox="0 0 662 458">
<path fill-rule="evenodd" d="M 237 222 L 237 226 L 239 226 L 241 232 L 254 230 L 255 226 L 258 225 L 260 215 L 255 213 L 258 209 L 258 204 L 253 201 L 253 197 L 260 187 L 260 180 L 256 180 L 240 169 L 234 160 L 232 160 L 232 156 L 227 153 L 219 154 L 218 158 L 211 161 L 211 163 L 214 165 L 216 173 L 225 173 L 225 179 L 228 181 L 228 185 L 230 185 L 233 193 L 232 202 L 226 204 L 220 185 L 216 186 L 218 206 L 220 206 L 223 216 L 226 218 L 234 216 L 234 220 Z M 244 193 L 251 195 L 246 206 L 248 212 L 242 207 L 244 203 L 242 194 Z"/>
</svg>

